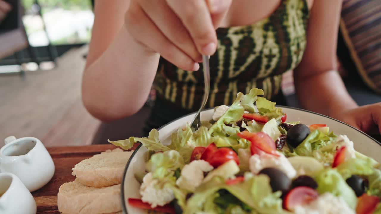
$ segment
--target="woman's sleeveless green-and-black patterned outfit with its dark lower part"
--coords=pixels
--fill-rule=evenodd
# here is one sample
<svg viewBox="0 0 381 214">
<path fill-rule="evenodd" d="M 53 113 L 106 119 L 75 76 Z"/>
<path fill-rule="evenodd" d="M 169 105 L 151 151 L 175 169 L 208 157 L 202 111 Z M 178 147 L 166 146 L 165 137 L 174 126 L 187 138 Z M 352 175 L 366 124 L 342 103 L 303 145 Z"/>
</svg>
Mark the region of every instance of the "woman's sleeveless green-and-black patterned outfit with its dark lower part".
<svg viewBox="0 0 381 214">
<path fill-rule="evenodd" d="M 258 22 L 217 29 L 206 108 L 229 105 L 238 92 L 248 93 L 254 87 L 274 100 L 281 91 L 282 74 L 302 59 L 308 17 L 306 0 L 283 0 L 274 13 Z M 187 72 L 160 59 L 154 82 L 157 99 L 146 130 L 196 111 L 203 87 L 202 64 L 199 71 Z"/>
</svg>

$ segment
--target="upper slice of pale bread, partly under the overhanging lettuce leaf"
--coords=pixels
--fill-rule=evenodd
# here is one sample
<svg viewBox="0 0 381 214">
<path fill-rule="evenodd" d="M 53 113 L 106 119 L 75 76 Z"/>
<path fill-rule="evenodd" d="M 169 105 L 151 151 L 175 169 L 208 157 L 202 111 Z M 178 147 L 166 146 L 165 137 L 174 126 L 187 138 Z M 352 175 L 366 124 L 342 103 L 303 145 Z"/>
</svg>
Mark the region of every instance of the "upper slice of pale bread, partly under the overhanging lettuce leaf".
<svg viewBox="0 0 381 214">
<path fill-rule="evenodd" d="M 132 152 L 107 150 L 74 166 L 72 175 L 89 187 L 107 187 L 122 182 L 123 170 Z"/>
</svg>

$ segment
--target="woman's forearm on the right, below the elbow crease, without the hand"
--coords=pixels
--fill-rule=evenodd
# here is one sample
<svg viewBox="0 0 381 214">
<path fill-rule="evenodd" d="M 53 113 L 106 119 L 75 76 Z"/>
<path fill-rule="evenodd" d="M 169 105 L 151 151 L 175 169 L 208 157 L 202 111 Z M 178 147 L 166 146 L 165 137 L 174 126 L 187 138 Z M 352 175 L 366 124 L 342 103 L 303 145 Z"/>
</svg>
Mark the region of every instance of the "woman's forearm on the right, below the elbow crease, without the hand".
<svg viewBox="0 0 381 214">
<path fill-rule="evenodd" d="M 304 109 L 336 118 L 344 110 L 358 107 L 336 71 L 295 77 L 296 95 Z"/>
</svg>

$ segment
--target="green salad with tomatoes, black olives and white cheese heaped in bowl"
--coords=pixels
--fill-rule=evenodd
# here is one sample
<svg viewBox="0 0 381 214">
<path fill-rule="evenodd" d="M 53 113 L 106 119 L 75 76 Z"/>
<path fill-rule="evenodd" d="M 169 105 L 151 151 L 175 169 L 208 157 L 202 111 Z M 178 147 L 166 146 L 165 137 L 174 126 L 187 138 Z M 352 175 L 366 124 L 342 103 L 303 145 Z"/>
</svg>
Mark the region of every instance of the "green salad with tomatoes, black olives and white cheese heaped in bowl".
<svg viewBox="0 0 381 214">
<path fill-rule="evenodd" d="M 381 214 L 379 163 L 325 124 L 287 121 L 253 88 L 195 133 L 179 127 L 163 145 L 148 137 L 110 143 L 146 147 L 141 198 L 128 203 L 171 214 Z"/>
</svg>

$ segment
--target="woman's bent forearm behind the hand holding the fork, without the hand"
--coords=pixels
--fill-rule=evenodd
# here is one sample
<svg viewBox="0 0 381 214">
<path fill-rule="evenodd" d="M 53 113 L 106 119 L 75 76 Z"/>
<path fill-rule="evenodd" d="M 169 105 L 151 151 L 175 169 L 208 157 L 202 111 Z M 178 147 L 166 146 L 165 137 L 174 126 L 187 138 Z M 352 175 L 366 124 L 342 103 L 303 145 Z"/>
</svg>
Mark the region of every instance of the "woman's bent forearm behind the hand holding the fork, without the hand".
<svg viewBox="0 0 381 214">
<path fill-rule="evenodd" d="M 104 121 L 136 113 L 146 102 L 159 57 L 136 42 L 123 26 L 106 51 L 83 73 L 86 109 Z"/>
</svg>

